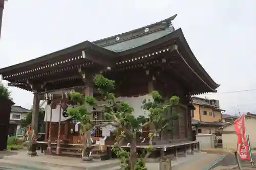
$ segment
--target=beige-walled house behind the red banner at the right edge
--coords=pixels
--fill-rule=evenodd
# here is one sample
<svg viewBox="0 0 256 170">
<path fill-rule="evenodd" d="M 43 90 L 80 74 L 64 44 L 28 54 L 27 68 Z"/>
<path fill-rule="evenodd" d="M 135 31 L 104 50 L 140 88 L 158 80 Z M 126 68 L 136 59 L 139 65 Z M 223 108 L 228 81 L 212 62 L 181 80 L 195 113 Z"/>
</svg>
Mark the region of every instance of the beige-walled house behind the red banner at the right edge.
<svg viewBox="0 0 256 170">
<path fill-rule="evenodd" d="M 222 144 L 224 149 L 234 149 L 237 148 L 237 134 L 234 131 L 234 124 L 230 122 L 225 126 L 221 127 L 222 129 Z M 245 115 L 245 129 L 246 135 L 249 135 L 251 148 L 256 148 L 256 115 L 252 113 L 247 113 Z"/>
</svg>

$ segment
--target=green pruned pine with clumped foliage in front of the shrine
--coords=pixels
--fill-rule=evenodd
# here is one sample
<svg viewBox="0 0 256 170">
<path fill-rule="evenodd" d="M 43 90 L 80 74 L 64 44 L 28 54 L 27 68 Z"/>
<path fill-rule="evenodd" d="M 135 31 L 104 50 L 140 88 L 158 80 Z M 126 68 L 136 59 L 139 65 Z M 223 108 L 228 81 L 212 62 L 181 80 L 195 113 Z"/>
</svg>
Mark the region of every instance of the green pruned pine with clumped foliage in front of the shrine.
<svg viewBox="0 0 256 170">
<path fill-rule="evenodd" d="M 173 96 L 168 102 L 164 102 L 157 91 L 151 92 L 153 101 L 144 101 L 141 104 L 142 108 L 149 112 L 147 120 L 143 115 L 135 117 L 133 115 L 134 108 L 129 106 L 129 104 L 122 101 L 115 101 L 115 94 L 113 93 L 115 82 L 113 80 L 104 78 L 102 75 L 97 75 L 94 77 L 93 82 L 101 94 L 101 99 L 105 101 L 105 104 L 99 106 L 97 104 L 97 100 L 93 96 L 84 96 L 78 92 L 73 92 L 70 94 L 71 100 L 79 103 L 80 106 L 68 109 L 69 115 L 75 117 L 81 122 L 81 126 L 84 131 L 84 151 L 86 153 L 86 160 L 91 160 L 89 153 L 92 148 L 92 143 L 89 138 L 91 137 L 92 128 L 112 125 L 116 128 L 116 141 L 112 147 L 112 151 L 120 158 L 122 169 L 146 169 L 145 160 L 150 156 L 153 151 L 153 147 L 152 145 L 149 145 L 146 148 L 143 157 L 138 157 L 136 151 L 136 134 L 143 127 L 152 123 L 155 125 L 155 129 L 158 128 L 159 124 L 161 124 L 161 129 L 168 127 L 166 125 L 169 123 L 167 118 L 170 118 L 170 116 L 165 112 L 167 111 L 167 108 L 178 106 L 179 98 L 177 96 Z M 93 111 L 88 109 L 90 107 L 100 107 L 103 111 L 104 118 L 112 119 L 113 121 L 103 123 L 101 125 L 95 125 L 92 119 Z M 157 131 L 149 134 L 151 141 L 153 141 L 156 133 Z M 130 142 L 130 152 L 123 150 L 121 147 L 124 140 Z"/>
</svg>

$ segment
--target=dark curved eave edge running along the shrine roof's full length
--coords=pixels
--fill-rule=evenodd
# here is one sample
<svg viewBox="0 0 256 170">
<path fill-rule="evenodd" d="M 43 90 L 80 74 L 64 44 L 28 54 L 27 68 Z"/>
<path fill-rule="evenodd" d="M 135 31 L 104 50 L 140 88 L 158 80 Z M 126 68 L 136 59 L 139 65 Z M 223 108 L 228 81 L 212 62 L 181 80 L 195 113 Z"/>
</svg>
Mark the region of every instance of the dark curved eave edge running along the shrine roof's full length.
<svg viewBox="0 0 256 170">
<path fill-rule="evenodd" d="M 148 42 L 146 44 L 143 44 L 141 46 L 135 47 L 135 48 L 131 48 L 130 50 L 126 50 L 123 52 L 113 52 L 110 50 L 106 50 L 105 48 L 102 48 L 90 41 L 84 41 L 81 42 L 79 44 L 73 45 L 71 47 L 65 48 L 63 50 L 33 59 L 33 60 L 29 60 L 23 63 L 19 63 L 16 65 L 12 65 L 6 68 L 2 68 L 0 69 L 0 74 L 5 74 L 8 71 L 12 71 L 15 69 L 20 69 L 22 67 L 26 67 L 26 66 L 30 66 L 30 65 L 34 65 L 34 64 L 38 64 L 40 62 L 43 61 L 50 61 L 53 58 L 56 57 L 60 57 L 62 55 L 65 54 L 69 54 L 72 52 L 76 52 L 76 51 L 82 51 L 82 50 L 93 50 L 93 51 L 97 51 L 101 54 L 104 54 L 104 56 L 109 56 L 113 59 L 113 57 L 118 57 L 118 60 L 121 60 L 122 58 L 125 59 L 125 57 L 127 55 L 131 55 L 131 54 L 136 54 L 138 52 L 142 52 L 144 50 L 148 51 L 149 49 L 156 47 L 158 45 L 164 44 L 166 42 L 169 42 L 170 40 L 173 41 L 180 41 L 182 43 L 182 46 L 185 48 L 185 51 L 188 53 L 188 55 L 184 55 L 185 58 L 189 57 L 190 60 L 193 62 L 192 64 L 195 65 L 194 67 L 197 67 L 199 69 L 200 72 L 197 72 L 197 74 L 200 75 L 204 75 L 204 77 L 208 80 L 208 82 L 210 82 L 209 86 L 210 91 L 207 92 L 217 92 L 217 90 L 215 90 L 216 88 L 218 88 L 220 85 L 215 83 L 214 80 L 211 79 L 211 77 L 207 74 L 207 72 L 205 71 L 205 69 L 201 66 L 201 64 L 198 62 L 198 60 L 196 59 L 195 55 L 192 53 L 189 45 L 187 44 L 187 41 L 183 35 L 183 32 L 181 29 L 178 29 L 170 34 L 167 34 L 165 36 L 163 36 L 162 38 L 158 38 L 154 41 Z M 201 77 L 201 76 L 200 76 Z M 204 79 L 204 78 L 203 78 Z M 206 91 L 205 91 L 206 92 Z"/>
</svg>

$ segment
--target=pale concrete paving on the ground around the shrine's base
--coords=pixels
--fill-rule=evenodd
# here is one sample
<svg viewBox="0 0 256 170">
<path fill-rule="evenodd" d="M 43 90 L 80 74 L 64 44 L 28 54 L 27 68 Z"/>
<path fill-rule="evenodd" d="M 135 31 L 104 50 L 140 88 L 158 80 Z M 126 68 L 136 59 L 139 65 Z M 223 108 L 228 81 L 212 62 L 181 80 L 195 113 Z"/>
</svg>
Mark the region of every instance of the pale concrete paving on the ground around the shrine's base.
<svg viewBox="0 0 256 170">
<path fill-rule="evenodd" d="M 195 153 L 195 155 L 188 155 L 187 157 L 178 158 L 178 161 L 172 161 L 173 170 L 200 170 L 204 166 L 208 166 L 216 159 L 218 159 L 220 154 L 207 154 L 207 153 Z M 119 169 L 119 160 L 106 160 L 100 161 L 95 160 L 93 163 L 82 162 L 79 158 L 69 158 L 60 157 L 53 155 L 39 154 L 37 157 L 27 156 L 26 151 L 21 152 L 0 152 L 0 164 L 4 167 L 9 167 L 10 165 L 19 166 L 16 168 L 19 170 L 78 170 L 78 169 L 88 169 L 88 170 L 117 170 Z M 148 170 L 158 170 L 159 163 L 146 163 Z M 23 168 L 23 169 L 22 169 Z M 13 168 L 15 169 L 15 168 Z M 0 168 L 1 170 L 1 168 Z"/>
</svg>

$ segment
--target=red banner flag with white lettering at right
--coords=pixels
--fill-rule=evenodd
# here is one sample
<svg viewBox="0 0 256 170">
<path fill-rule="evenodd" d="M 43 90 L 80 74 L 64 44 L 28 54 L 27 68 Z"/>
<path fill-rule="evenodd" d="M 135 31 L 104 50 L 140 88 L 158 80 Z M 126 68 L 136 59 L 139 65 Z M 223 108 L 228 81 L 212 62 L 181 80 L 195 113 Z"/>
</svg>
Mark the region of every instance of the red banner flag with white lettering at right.
<svg viewBox="0 0 256 170">
<path fill-rule="evenodd" d="M 234 130 L 238 135 L 237 152 L 241 159 L 250 160 L 248 142 L 245 137 L 244 115 L 234 121 Z"/>
</svg>

